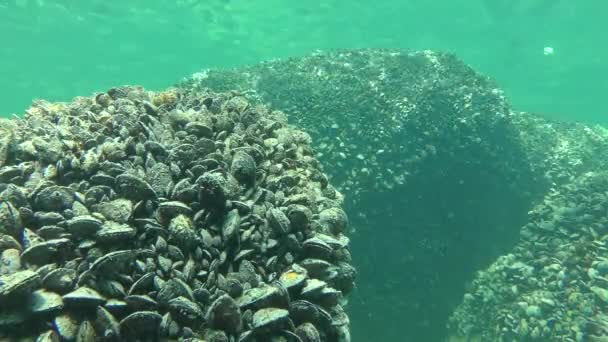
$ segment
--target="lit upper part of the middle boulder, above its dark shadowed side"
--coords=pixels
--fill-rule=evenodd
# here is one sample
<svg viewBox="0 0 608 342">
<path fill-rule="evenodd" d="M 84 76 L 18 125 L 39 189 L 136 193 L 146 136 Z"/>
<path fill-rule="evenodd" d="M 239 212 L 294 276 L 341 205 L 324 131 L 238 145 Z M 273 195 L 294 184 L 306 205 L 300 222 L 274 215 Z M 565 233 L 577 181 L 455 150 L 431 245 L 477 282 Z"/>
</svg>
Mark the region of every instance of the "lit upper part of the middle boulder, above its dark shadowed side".
<svg viewBox="0 0 608 342">
<path fill-rule="evenodd" d="M 514 187 L 526 171 L 502 91 L 451 54 L 317 53 L 205 70 L 181 86 L 237 89 L 288 113 L 314 137 L 320 160 L 351 201 L 430 178 L 438 161 L 453 169 L 471 164 Z"/>
</svg>

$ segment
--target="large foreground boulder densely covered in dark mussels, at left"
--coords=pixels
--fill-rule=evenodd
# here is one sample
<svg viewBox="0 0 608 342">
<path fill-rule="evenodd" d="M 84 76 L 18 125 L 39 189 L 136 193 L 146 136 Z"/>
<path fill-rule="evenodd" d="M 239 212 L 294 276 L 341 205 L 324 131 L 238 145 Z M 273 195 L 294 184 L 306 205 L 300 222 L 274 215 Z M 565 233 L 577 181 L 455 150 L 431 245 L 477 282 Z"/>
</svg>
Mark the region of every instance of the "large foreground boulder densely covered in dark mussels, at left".
<svg viewBox="0 0 608 342">
<path fill-rule="evenodd" d="M 350 340 L 342 195 L 282 112 L 120 87 L 0 133 L 0 339 Z"/>
</svg>

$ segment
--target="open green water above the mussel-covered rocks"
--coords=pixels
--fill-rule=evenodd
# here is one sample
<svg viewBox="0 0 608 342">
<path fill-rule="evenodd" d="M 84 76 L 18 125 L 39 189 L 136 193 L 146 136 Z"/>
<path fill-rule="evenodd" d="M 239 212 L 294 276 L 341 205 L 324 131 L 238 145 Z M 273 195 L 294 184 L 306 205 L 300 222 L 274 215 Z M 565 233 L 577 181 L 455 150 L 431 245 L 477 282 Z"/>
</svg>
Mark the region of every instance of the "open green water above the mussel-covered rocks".
<svg viewBox="0 0 608 342">
<path fill-rule="evenodd" d="M 0 113 L 315 49 L 457 53 L 517 109 L 606 122 L 608 3 L 0 0 Z M 544 48 L 553 54 L 545 55 Z"/>
</svg>

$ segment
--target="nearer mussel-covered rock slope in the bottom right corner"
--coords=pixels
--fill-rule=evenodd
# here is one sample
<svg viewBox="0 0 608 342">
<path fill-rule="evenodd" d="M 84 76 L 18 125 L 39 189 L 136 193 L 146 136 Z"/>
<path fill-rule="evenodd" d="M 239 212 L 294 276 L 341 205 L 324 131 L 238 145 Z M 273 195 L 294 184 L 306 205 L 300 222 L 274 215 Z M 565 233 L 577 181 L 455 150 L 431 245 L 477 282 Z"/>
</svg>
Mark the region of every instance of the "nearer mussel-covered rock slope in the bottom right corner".
<svg viewBox="0 0 608 342">
<path fill-rule="evenodd" d="M 608 173 L 587 172 L 529 213 L 521 240 L 480 271 L 449 341 L 608 338 Z"/>
</svg>

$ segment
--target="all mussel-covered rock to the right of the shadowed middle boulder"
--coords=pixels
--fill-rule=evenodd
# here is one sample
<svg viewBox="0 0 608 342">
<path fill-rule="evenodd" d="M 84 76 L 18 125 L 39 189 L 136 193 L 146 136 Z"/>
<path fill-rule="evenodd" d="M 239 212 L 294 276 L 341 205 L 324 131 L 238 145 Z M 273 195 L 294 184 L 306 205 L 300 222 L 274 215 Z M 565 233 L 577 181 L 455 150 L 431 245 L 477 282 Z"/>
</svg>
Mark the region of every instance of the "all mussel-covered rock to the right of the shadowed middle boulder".
<svg viewBox="0 0 608 342">
<path fill-rule="evenodd" d="M 519 243 L 478 272 L 449 340 L 606 340 L 608 130 L 517 115 L 531 165 L 552 188 Z"/>
</svg>

